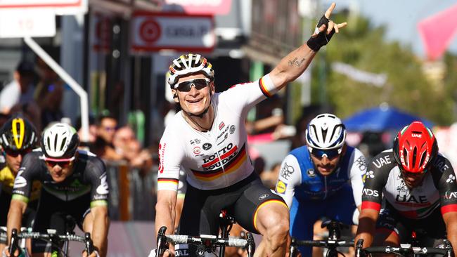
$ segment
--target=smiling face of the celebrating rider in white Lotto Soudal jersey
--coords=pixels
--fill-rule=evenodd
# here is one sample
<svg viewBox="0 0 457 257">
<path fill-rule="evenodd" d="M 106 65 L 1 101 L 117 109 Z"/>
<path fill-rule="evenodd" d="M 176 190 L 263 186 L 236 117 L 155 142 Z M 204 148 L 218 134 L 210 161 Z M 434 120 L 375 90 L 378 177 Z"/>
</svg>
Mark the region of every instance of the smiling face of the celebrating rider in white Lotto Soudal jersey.
<svg viewBox="0 0 457 257">
<path fill-rule="evenodd" d="M 193 74 L 179 78 L 178 84 L 195 79 L 207 79 L 207 77 L 205 77 L 203 74 Z M 180 91 L 178 88 L 173 90 L 173 93 L 178 95 L 178 98 L 174 98 L 174 100 L 176 103 L 181 105 L 181 108 L 184 110 L 184 112 L 190 112 L 191 114 L 198 115 L 205 111 L 206 108 L 210 105 L 211 93 L 214 93 L 214 85 L 212 82 L 209 82 L 208 86 L 204 86 L 200 89 L 198 89 L 197 85 L 193 85 L 191 86 L 190 91 Z"/>
</svg>

